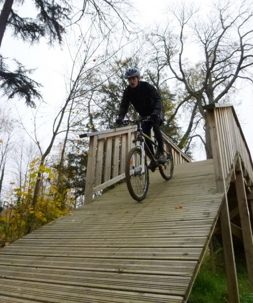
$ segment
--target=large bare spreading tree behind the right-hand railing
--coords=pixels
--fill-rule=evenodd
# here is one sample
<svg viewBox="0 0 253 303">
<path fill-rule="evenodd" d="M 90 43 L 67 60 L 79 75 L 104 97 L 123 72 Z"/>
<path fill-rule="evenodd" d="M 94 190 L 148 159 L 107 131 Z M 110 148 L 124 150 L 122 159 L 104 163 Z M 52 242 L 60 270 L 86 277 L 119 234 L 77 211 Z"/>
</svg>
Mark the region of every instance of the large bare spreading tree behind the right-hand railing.
<svg viewBox="0 0 253 303">
<path fill-rule="evenodd" d="M 193 136 L 199 136 L 205 142 L 209 159 L 212 150 L 203 106 L 228 102 L 242 80 L 252 83 L 253 10 L 246 1 L 219 1 L 207 18 L 186 6 L 176 7 L 170 13 L 179 32 L 168 24 L 164 31 L 153 32 L 151 44 L 159 65 L 170 71 L 171 81 L 174 79 L 177 87 L 184 89 L 177 110 L 193 104 L 182 143 L 189 146 Z M 189 43 L 199 50 L 199 60 L 194 64 L 187 58 Z M 199 125 L 204 127 L 205 138 L 196 132 Z"/>
</svg>

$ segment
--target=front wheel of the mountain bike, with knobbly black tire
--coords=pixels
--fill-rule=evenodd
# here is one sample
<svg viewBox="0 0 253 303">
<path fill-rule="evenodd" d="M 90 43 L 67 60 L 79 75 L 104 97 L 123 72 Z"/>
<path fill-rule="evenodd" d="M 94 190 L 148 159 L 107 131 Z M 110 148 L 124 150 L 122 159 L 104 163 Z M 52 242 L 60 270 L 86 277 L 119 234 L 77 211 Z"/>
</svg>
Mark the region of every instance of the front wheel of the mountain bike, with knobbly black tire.
<svg viewBox="0 0 253 303">
<path fill-rule="evenodd" d="M 127 155 L 125 176 L 128 191 L 137 201 L 144 199 L 148 190 L 149 174 L 146 161 L 144 167 L 144 173 L 141 173 L 141 150 L 135 146 Z"/>
</svg>

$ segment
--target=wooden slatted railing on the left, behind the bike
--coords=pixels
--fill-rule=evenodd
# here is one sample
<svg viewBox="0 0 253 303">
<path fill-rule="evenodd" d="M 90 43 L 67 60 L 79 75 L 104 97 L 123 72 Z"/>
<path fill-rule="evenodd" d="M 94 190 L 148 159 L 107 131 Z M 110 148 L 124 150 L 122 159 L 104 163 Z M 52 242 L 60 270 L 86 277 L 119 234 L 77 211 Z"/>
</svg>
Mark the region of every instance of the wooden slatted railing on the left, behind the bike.
<svg viewBox="0 0 253 303">
<path fill-rule="evenodd" d="M 125 161 L 133 146 L 135 128 L 131 126 L 80 135 L 89 138 L 84 203 L 93 195 L 125 178 Z M 191 160 L 165 135 L 172 146 L 174 163 Z"/>
</svg>

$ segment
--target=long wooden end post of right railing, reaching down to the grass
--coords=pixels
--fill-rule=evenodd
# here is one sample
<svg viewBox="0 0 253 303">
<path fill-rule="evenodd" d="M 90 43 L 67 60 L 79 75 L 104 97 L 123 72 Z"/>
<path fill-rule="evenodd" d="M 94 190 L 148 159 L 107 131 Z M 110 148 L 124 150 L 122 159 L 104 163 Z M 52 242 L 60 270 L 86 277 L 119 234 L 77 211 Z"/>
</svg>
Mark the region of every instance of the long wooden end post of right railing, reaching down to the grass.
<svg viewBox="0 0 253 303">
<path fill-rule="evenodd" d="M 222 163 L 221 138 L 217 128 L 215 108 L 206 108 L 207 121 L 210 129 L 214 170 L 218 192 L 224 192 L 224 199 L 220 212 L 221 233 L 226 267 L 229 303 L 239 303 L 238 281 L 235 267 L 234 248 L 229 218 L 228 199 L 226 193 L 225 175 Z"/>
</svg>

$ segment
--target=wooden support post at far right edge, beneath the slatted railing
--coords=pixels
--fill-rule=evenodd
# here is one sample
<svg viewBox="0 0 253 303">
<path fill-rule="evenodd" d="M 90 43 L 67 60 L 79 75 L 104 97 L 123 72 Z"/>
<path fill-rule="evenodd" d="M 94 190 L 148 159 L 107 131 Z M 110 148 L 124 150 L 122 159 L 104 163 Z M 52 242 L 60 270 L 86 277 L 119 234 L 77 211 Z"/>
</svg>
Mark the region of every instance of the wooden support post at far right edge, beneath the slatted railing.
<svg viewBox="0 0 253 303">
<path fill-rule="evenodd" d="M 253 238 L 240 158 L 238 158 L 237 162 L 235 187 L 240 214 L 248 278 L 251 290 L 253 290 Z"/>
</svg>

